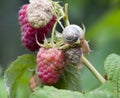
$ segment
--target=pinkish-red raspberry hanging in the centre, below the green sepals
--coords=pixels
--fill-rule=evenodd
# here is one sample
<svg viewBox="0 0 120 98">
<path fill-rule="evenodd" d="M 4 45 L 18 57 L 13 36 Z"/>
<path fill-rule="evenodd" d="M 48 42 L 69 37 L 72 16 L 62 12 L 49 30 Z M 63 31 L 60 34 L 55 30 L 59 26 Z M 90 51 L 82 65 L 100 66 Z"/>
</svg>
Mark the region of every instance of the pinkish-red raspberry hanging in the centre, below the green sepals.
<svg viewBox="0 0 120 98">
<path fill-rule="evenodd" d="M 46 85 L 57 83 L 65 66 L 63 51 L 57 48 L 40 48 L 36 61 L 41 83 Z"/>
</svg>

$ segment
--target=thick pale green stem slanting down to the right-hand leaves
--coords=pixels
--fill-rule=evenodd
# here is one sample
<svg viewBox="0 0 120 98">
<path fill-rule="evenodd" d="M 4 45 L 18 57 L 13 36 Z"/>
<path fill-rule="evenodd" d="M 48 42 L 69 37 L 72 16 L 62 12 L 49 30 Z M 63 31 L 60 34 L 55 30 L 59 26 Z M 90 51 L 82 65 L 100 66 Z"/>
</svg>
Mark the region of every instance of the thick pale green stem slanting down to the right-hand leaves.
<svg viewBox="0 0 120 98">
<path fill-rule="evenodd" d="M 100 75 L 100 73 L 94 68 L 94 66 L 84 56 L 81 57 L 81 61 L 93 73 L 93 75 L 99 80 L 101 84 L 105 83 L 105 79 Z"/>
</svg>

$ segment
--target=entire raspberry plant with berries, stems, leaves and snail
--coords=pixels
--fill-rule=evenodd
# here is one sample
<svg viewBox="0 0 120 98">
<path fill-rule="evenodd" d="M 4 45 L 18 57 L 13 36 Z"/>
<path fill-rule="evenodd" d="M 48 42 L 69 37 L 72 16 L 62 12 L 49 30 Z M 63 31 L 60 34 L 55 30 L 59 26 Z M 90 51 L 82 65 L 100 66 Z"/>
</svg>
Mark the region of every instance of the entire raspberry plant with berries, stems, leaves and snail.
<svg viewBox="0 0 120 98">
<path fill-rule="evenodd" d="M 18 20 L 22 43 L 34 53 L 19 56 L 5 71 L 4 83 L 9 98 L 17 97 L 23 77 L 30 98 L 120 97 L 120 56 L 107 57 L 105 77 L 101 76 L 84 56 L 91 51 L 85 39 L 85 27 L 70 24 L 67 7 L 68 4 L 62 7 L 52 0 L 30 0 L 21 7 Z M 57 25 L 62 32 L 57 30 Z M 82 90 L 83 65 L 101 84 L 95 90 Z"/>
</svg>

